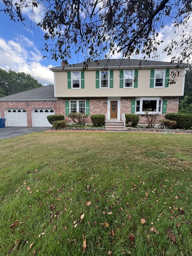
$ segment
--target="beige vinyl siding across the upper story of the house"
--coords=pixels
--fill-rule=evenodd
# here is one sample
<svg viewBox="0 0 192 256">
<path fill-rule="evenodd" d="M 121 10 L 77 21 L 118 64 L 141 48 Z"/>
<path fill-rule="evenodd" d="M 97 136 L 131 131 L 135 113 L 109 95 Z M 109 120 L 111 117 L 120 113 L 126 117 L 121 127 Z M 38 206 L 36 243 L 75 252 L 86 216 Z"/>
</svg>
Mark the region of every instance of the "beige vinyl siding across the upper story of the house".
<svg viewBox="0 0 192 256">
<path fill-rule="evenodd" d="M 162 68 L 161 68 L 162 69 Z M 170 69 L 170 72 L 172 70 Z M 150 69 L 138 72 L 138 88 L 119 88 L 119 70 L 114 70 L 113 88 L 96 89 L 96 72 L 85 71 L 85 89 L 67 89 L 67 73 L 55 72 L 56 97 L 137 97 L 137 96 L 181 96 L 183 77 L 168 88 L 150 88 Z"/>
</svg>

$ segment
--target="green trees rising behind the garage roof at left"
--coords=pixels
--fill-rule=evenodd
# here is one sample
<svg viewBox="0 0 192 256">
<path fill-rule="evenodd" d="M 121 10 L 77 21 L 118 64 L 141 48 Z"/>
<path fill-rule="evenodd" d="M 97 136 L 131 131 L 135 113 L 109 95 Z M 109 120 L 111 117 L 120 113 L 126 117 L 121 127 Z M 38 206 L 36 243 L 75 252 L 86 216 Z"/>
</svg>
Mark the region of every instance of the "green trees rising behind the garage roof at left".
<svg viewBox="0 0 192 256">
<path fill-rule="evenodd" d="M 8 72 L 0 69 L 0 97 L 12 95 L 19 92 L 28 91 L 41 87 L 31 75 L 24 72 L 9 70 Z"/>
</svg>

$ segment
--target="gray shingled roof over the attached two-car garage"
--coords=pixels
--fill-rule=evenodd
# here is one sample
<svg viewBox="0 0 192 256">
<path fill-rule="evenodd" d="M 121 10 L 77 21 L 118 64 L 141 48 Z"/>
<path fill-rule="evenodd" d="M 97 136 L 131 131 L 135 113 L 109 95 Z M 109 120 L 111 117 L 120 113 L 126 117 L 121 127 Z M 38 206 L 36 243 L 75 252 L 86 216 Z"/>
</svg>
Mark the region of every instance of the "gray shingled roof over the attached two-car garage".
<svg viewBox="0 0 192 256">
<path fill-rule="evenodd" d="M 54 97 L 54 86 L 42 86 L 0 98 L 0 101 L 45 101 L 57 100 Z"/>
</svg>

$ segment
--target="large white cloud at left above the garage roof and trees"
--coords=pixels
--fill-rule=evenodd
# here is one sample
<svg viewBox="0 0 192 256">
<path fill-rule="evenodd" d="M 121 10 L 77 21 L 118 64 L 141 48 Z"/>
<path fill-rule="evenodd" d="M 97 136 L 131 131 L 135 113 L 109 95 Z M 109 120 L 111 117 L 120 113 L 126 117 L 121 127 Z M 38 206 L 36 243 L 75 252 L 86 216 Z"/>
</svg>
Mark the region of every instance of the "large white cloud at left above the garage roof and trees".
<svg viewBox="0 0 192 256">
<path fill-rule="evenodd" d="M 52 65 L 46 67 L 40 63 L 41 53 L 25 36 L 19 35 L 16 39 L 9 41 L 0 38 L 0 49 L 2 69 L 25 72 L 42 84 L 54 83 L 53 72 L 49 70 Z"/>
</svg>

